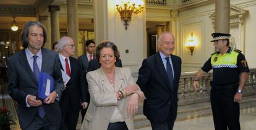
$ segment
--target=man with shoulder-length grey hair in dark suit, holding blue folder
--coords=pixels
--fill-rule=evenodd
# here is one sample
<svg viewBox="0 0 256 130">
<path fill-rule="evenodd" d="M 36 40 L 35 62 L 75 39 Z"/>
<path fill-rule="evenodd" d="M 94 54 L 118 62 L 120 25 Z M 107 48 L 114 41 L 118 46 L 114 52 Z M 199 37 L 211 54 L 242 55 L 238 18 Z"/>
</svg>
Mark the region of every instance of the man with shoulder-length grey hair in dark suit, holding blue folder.
<svg viewBox="0 0 256 130">
<path fill-rule="evenodd" d="M 27 22 L 22 31 L 24 49 L 7 60 L 8 92 L 18 103 L 20 128 L 25 130 L 59 129 L 61 123 L 61 109 L 55 99 L 61 96 L 64 84 L 58 54 L 43 48 L 46 32 L 42 23 Z M 54 78 L 54 90 L 45 100 L 36 98 L 40 71 Z"/>
</svg>

